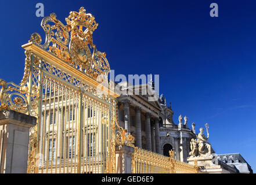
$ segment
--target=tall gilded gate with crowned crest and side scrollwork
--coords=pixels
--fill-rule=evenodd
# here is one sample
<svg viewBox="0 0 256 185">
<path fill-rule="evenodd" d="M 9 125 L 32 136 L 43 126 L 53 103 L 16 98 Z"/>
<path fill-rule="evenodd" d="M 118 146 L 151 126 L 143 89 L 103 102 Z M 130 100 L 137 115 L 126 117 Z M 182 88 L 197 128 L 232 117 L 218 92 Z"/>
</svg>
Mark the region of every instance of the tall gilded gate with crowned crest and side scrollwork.
<svg viewBox="0 0 256 185">
<path fill-rule="evenodd" d="M 71 12 L 67 25 L 56 17 L 42 19 L 44 43 L 34 33 L 23 45 L 20 85 L 0 79 L 0 110 L 37 117 L 28 173 L 114 173 L 118 95 L 113 84 L 101 84 L 110 66 L 93 43 L 98 24 L 84 8 Z"/>
</svg>

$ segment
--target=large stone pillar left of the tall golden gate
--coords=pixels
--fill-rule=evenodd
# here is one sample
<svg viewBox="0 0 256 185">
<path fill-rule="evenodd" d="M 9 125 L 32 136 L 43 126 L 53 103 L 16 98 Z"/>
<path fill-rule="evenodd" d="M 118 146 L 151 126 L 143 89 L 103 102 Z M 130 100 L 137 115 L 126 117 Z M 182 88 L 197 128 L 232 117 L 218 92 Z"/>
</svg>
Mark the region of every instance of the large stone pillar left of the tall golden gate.
<svg viewBox="0 0 256 185">
<path fill-rule="evenodd" d="M 30 127 L 37 118 L 14 110 L 0 112 L 0 172 L 27 173 Z"/>
</svg>

